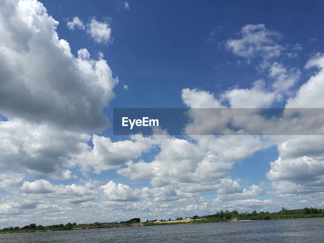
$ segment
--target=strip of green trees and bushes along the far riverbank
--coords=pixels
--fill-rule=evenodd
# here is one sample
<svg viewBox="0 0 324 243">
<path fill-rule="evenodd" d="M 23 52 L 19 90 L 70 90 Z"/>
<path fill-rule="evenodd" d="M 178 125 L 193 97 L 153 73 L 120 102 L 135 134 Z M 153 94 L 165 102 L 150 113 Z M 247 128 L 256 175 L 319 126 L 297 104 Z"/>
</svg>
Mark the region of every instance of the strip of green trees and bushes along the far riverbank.
<svg viewBox="0 0 324 243">
<path fill-rule="evenodd" d="M 175 225 L 175 224 L 198 224 L 198 223 L 215 223 L 215 222 L 224 222 L 228 220 L 270 220 L 270 219 L 288 219 L 288 218 L 313 218 L 313 217 L 324 217 L 324 209 L 317 208 L 303 208 L 303 209 L 292 209 L 287 210 L 282 208 L 279 212 L 269 213 L 263 212 L 257 213 L 253 211 L 252 213 L 242 213 L 239 214 L 236 210 L 232 212 L 216 212 L 216 214 L 198 216 L 194 215 L 191 218 L 197 219 L 192 221 L 182 221 L 182 222 L 173 222 L 171 218 L 168 221 L 161 219 L 160 223 L 156 224 L 155 220 L 146 220 L 146 222 L 141 223 L 140 218 L 132 218 L 127 221 L 118 222 L 95 222 L 93 224 L 76 224 L 76 223 L 67 223 L 59 225 L 36 225 L 30 224 L 24 227 L 6 227 L 0 229 L 0 234 L 7 233 L 25 233 L 25 232 L 41 232 L 41 231 L 59 231 L 59 230 L 73 230 L 73 229 L 91 229 L 91 228 L 111 228 L 111 227 L 127 227 L 127 226 L 153 226 L 153 225 Z M 182 217 L 177 217 L 176 220 L 182 220 Z M 199 220 L 198 220 L 199 219 Z"/>
</svg>

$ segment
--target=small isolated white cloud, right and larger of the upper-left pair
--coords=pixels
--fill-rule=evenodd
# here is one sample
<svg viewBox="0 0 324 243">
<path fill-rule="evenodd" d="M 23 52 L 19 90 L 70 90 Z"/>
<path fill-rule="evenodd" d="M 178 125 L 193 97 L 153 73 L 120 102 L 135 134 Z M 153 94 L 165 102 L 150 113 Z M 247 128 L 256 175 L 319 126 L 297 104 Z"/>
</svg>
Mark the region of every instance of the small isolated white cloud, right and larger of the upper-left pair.
<svg viewBox="0 0 324 243">
<path fill-rule="evenodd" d="M 109 23 L 99 22 L 95 18 L 87 24 L 87 32 L 98 43 L 111 42 L 111 28 Z"/>
</svg>

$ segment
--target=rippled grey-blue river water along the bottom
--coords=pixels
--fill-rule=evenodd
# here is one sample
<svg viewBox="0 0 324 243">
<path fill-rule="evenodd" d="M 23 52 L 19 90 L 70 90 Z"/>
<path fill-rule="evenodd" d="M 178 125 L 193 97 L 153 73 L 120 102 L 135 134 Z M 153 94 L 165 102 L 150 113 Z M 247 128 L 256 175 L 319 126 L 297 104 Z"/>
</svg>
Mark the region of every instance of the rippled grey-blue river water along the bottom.
<svg viewBox="0 0 324 243">
<path fill-rule="evenodd" d="M 0 234 L 1 243 L 323 242 L 324 218 Z"/>
</svg>

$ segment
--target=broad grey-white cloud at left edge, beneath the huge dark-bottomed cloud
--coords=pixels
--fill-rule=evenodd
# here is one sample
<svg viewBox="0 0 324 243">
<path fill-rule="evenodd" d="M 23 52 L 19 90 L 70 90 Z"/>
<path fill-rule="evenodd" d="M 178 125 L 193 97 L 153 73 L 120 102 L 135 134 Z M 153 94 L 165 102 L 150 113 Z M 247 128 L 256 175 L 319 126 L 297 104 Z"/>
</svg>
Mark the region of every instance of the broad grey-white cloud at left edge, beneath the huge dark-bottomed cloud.
<svg viewBox="0 0 324 243">
<path fill-rule="evenodd" d="M 27 169 L 36 178 L 52 176 L 73 179 L 69 169 L 75 163 L 67 160 L 87 147 L 90 136 L 69 130 L 56 130 L 48 124 L 35 124 L 22 119 L 0 121 L 0 137 L 14 150 L 0 153 L 0 168 Z"/>
</svg>

